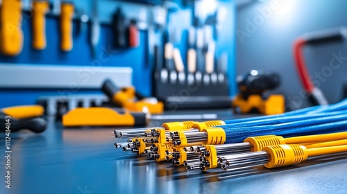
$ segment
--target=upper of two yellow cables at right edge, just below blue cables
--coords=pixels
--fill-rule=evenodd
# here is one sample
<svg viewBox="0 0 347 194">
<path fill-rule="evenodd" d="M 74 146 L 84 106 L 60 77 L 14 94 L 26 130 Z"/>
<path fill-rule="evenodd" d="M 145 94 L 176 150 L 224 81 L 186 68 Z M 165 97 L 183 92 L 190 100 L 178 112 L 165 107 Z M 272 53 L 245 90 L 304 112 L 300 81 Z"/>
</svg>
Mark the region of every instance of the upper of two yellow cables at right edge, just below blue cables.
<svg viewBox="0 0 347 194">
<path fill-rule="evenodd" d="M 303 142 L 335 141 L 340 139 L 347 139 L 347 132 L 289 137 L 285 138 L 285 143 L 298 144 Z"/>
</svg>

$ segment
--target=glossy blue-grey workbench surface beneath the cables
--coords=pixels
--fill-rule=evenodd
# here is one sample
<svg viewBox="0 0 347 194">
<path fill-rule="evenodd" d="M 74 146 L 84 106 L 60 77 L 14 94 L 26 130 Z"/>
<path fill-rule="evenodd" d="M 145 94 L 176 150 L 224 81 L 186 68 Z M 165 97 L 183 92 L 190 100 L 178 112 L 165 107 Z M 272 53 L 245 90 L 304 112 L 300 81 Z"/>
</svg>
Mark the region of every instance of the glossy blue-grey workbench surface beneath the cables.
<svg viewBox="0 0 347 194">
<path fill-rule="evenodd" d="M 219 111 L 219 116 L 232 118 L 229 110 Z M 64 129 L 50 120 L 42 134 L 12 133 L 11 188 L 1 181 L 0 193 L 347 193 L 346 153 L 285 168 L 261 167 L 239 176 L 220 168 L 186 172 L 184 166 L 157 164 L 146 156 L 113 148 L 115 139 L 109 131 Z M 1 152 L 6 155 L 4 139 L 1 134 Z M 4 180 L 6 160 L 1 158 Z"/>
</svg>

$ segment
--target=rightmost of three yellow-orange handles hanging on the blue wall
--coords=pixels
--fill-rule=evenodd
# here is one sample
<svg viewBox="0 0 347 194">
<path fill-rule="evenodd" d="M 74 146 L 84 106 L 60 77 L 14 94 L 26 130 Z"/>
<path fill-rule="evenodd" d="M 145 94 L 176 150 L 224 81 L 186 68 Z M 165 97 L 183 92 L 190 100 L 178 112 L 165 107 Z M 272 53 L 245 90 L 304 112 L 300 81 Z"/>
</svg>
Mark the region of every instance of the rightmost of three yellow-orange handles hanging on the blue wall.
<svg viewBox="0 0 347 194">
<path fill-rule="evenodd" d="M 62 51 L 71 51 L 72 43 L 72 17 L 74 15 L 74 5 L 62 3 L 60 6 L 60 48 Z"/>
</svg>

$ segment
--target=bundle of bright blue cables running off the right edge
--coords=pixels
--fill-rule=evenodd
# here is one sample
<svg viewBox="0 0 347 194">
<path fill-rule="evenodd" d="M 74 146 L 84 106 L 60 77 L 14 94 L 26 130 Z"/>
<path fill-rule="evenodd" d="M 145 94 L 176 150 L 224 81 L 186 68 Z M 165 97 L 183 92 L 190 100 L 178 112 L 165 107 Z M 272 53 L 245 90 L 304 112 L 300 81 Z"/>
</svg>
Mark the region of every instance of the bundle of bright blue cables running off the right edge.
<svg viewBox="0 0 347 194">
<path fill-rule="evenodd" d="M 280 115 L 225 121 L 227 125 L 217 127 L 226 132 L 225 143 L 237 143 L 248 136 L 266 134 L 288 137 L 340 132 L 347 129 L 346 118 L 347 99 L 335 105 L 309 107 Z"/>
</svg>

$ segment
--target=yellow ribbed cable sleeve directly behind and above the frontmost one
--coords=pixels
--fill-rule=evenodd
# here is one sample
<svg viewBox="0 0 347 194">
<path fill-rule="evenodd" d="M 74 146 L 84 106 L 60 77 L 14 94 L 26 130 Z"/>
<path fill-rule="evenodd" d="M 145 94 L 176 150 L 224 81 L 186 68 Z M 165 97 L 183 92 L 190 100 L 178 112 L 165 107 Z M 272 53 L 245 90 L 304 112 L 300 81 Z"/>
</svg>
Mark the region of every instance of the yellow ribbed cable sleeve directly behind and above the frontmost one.
<svg viewBox="0 0 347 194">
<path fill-rule="evenodd" d="M 264 135 L 247 137 L 244 142 L 251 143 L 252 152 L 258 152 L 265 146 L 285 144 L 285 139 L 282 136 Z"/>
</svg>

